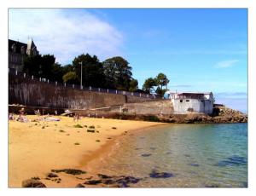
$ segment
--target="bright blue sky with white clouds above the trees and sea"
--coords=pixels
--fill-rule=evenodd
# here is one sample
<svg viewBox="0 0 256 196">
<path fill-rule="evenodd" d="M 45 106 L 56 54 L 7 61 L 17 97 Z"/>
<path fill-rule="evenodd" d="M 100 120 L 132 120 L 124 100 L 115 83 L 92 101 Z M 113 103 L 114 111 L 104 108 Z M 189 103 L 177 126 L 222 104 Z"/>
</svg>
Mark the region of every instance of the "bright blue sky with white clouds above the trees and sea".
<svg viewBox="0 0 256 196">
<path fill-rule="evenodd" d="M 121 55 L 140 87 L 164 72 L 169 89 L 247 112 L 247 9 L 9 9 L 9 37 L 27 36 L 63 65 Z"/>
</svg>

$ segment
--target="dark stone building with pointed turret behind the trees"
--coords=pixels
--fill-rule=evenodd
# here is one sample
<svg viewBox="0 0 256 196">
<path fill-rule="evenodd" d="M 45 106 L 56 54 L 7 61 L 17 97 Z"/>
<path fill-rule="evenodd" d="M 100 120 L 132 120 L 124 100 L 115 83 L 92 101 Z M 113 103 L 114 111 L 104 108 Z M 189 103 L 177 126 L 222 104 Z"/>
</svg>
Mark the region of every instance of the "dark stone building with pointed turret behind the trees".
<svg viewBox="0 0 256 196">
<path fill-rule="evenodd" d="M 9 39 L 9 68 L 21 72 L 23 61 L 27 55 L 39 55 L 37 46 L 32 38 L 27 43 Z"/>
</svg>

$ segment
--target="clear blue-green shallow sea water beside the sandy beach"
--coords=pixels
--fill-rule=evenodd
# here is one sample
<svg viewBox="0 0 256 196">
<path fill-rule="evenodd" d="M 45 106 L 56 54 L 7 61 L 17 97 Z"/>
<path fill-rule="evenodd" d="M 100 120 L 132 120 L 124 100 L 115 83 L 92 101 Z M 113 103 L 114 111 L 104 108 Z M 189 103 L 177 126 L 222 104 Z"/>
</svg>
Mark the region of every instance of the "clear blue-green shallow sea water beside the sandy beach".
<svg viewBox="0 0 256 196">
<path fill-rule="evenodd" d="M 131 187 L 247 187 L 247 124 L 128 132 L 97 170 L 142 178 Z"/>
</svg>

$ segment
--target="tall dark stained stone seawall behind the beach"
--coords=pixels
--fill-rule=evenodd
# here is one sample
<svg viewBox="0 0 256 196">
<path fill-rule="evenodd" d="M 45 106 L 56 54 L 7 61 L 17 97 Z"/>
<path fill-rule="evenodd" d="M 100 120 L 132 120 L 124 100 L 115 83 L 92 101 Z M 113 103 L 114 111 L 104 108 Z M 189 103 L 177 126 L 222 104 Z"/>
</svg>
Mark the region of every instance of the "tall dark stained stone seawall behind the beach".
<svg viewBox="0 0 256 196">
<path fill-rule="evenodd" d="M 151 99 L 72 89 L 63 85 L 48 84 L 9 74 L 9 104 L 22 104 L 30 107 L 91 109 L 148 100 Z"/>
</svg>

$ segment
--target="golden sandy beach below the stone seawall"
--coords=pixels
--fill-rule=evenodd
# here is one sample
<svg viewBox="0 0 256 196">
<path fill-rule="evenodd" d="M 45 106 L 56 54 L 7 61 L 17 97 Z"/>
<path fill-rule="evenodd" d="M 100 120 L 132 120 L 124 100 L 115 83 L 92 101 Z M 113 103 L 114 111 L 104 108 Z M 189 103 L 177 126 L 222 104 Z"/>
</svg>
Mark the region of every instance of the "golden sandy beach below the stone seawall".
<svg viewBox="0 0 256 196">
<path fill-rule="evenodd" d="M 88 171 L 90 165 L 92 170 L 90 162 L 94 160 L 93 163 L 100 163 L 95 160 L 103 156 L 120 135 L 125 135 L 125 131 L 130 134 L 135 130 L 162 124 L 103 118 L 82 118 L 74 122 L 73 118 L 58 118 L 61 121 L 9 121 L 9 187 L 21 187 L 23 180 L 36 176 L 46 187 L 75 187 L 92 174 L 87 172 L 73 176 L 57 173 L 61 178 L 59 183 L 45 178 L 50 170 L 55 169 Z M 76 124 L 83 128 L 75 128 Z M 87 132 L 91 125 L 95 126 L 95 133 Z"/>
</svg>

